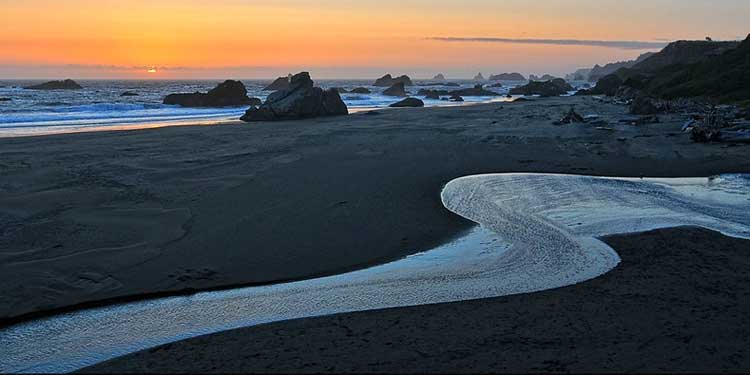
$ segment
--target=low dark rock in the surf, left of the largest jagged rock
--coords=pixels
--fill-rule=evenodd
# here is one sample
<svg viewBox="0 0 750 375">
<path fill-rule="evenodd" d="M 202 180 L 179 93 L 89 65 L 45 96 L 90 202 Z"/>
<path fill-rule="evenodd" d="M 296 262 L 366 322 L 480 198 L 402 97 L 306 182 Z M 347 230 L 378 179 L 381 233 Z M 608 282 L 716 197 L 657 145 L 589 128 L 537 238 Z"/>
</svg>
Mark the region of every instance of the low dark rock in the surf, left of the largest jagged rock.
<svg viewBox="0 0 750 375">
<path fill-rule="evenodd" d="M 208 93 L 170 94 L 164 104 L 182 107 L 234 107 L 251 104 L 247 89 L 240 81 L 227 80 Z"/>
</svg>

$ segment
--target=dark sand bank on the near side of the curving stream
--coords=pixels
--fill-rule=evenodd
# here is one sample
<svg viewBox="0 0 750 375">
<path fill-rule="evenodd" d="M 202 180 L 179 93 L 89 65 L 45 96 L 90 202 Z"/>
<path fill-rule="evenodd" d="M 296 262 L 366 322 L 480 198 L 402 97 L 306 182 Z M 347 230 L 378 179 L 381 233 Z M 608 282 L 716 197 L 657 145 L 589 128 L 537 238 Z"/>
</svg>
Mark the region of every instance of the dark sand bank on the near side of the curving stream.
<svg viewBox="0 0 750 375">
<path fill-rule="evenodd" d="M 605 241 L 622 264 L 582 284 L 239 329 L 84 372 L 750 371 L 750 241 L 701 228 Z"/>
</svg>

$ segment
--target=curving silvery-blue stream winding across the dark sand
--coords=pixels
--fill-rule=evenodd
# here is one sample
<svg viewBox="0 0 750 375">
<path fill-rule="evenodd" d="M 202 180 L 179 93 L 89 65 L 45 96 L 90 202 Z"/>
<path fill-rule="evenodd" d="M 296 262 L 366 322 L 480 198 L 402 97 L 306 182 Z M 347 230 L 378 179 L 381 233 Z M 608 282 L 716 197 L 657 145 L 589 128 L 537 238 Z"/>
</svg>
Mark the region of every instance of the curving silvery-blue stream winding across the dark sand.
<svg viewBox="0 0 750 375">
<path fill-rule="evenodd" d="M 750 238 L 750 175 L 633 179 L 495 174 L 451 181 L 444 205 L 480 224 L 428 252 L 346 274 L 63 313 L 0 330 L 0 372 L 68 372 L 262 323 L 562 287 L 614 268 L 597 238 L 697 225 Z"/>
</svg>

